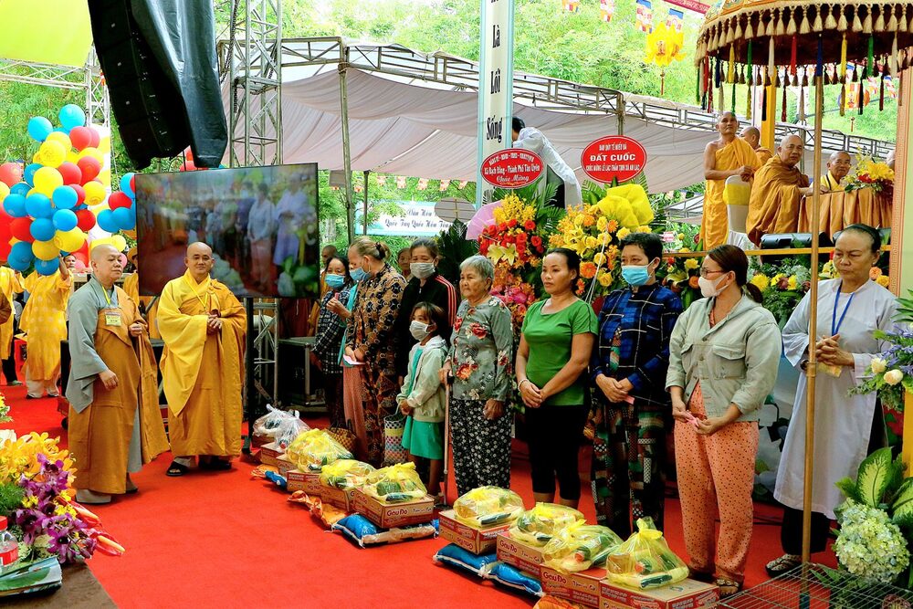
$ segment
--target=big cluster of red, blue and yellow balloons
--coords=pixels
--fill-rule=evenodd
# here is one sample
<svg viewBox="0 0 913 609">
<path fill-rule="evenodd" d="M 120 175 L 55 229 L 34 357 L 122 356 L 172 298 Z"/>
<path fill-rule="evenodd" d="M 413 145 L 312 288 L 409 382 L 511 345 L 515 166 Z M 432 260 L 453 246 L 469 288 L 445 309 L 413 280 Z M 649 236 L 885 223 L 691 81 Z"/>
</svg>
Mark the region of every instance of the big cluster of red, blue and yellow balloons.
<svg viewBox="0 0 913 609">
<path fill-rule="evenodd" d="M 28 134 L 41 145 L 25 171 L 20 174 L 16 163 L 0 166 L 5 183 L 0 194 L 9 216 L 0 218 L 9 233 L 0 228 L 0 257 L 16 270 L 34 262 L 42 275 L 58 269 L 61 254 L 86 246 L 86 232 L 96 224 L 90 207 L 105 200 L 105 182 L 110 184 L 110 172 L 100 175 L 110 138 L 87 127 L 85 112 L 75 104 L 64 106 L 58 118 L 58 128 L 41 116 L 28 121 Z"/>
</svg>

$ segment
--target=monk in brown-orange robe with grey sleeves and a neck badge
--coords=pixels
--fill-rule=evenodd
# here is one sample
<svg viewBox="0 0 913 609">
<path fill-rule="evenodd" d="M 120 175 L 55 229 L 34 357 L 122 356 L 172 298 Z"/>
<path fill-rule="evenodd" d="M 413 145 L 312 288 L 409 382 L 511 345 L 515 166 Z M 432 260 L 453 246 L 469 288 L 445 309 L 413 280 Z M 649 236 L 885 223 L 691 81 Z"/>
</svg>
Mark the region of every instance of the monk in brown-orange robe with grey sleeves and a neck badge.
<svg viewBox="0 0 913 609">
<path fill-rule="evenodd" d="M 146 323 L 114 285 L 123 270 L 121 253 L 94 247 L 90 264 L 92 277 L 68 304 L 68 434 L 76 499 L 99 504 L 136 492 L 130 475 L 168 450 L 168 440 L 155 372 L 148 373 L 154 359 Z"/>
</svg>

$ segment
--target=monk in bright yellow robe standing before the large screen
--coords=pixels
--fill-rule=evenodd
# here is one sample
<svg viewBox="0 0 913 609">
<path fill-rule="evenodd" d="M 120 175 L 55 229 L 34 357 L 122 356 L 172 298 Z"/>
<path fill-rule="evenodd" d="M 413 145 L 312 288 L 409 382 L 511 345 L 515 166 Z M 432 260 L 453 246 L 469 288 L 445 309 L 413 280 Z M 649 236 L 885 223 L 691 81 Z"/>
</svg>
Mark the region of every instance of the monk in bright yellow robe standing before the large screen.
<svg viewBox="0 0 913 609">
<path fill-rule="evenodd" d="M 213 250 L 187 247 L 183 277 L 169 281 L 159 300 L 165 349 L 162 377 L 168 398 L 174 460 L 168 476 L 231 468 L 241 452 L 241 383 L 247 316 L 228 289 L 209 277 Z"/>
</svg>

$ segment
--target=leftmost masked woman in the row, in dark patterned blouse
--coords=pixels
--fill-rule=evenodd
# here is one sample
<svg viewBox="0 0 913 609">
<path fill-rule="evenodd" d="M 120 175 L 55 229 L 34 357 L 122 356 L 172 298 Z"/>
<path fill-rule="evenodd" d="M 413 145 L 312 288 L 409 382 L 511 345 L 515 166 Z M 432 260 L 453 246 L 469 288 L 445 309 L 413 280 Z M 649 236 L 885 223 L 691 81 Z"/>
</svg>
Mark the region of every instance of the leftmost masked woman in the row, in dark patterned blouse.
<svg viewBox="0 0 913 609">
<path fill-rule="evenodd" d="M 310 361 L 323 373 L 323 397 L 327 403 L 327 412 L 330 414 L 330 426 L 345 427 L 340 349 L 347 318 L 331 310 L 330 303 L 334 301 L 341 305 L 349 301 L 349 291 L 353 283 L 352 276 L 349 275 L 349 261 L 341 256 L 331 257 L 327 261 L 324 281 L 327 284 L 327 293 L 320 300 L 317 342 L 310 352 Z"/>
</svg>

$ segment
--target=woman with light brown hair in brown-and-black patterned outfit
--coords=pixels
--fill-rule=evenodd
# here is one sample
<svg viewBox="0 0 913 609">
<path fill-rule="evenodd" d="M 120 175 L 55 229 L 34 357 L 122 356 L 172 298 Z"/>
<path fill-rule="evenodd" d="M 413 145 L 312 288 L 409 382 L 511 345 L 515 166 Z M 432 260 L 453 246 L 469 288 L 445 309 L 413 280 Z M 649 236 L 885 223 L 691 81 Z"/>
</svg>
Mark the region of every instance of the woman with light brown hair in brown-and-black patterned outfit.
<svg viewBox="0 0 913 609">
<path fill-rule="evenodd" d="M 385 243 L 361 236 L 349 247 L 349 256 L 362 258 L 362 267 L 352 272 L 352 278 L 362 280 L 362 284 L 349 319 L 346 354 L 363 362 L 367 460 L 377 466 L 383 461 L 383 418 L 397 410 L 399 386 L 394 362 L 397 337 L 393 330 L 405 279 L 386 262 L 390 248 Z"/>
</svg>

